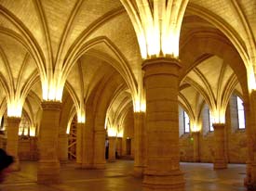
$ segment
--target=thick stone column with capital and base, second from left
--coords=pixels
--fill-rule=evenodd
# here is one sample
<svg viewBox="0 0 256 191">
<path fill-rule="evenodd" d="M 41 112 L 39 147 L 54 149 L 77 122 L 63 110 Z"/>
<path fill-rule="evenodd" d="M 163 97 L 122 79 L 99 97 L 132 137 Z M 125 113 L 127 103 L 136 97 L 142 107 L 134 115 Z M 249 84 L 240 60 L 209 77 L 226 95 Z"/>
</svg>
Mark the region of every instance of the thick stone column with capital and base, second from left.
<svg viewBox="0 0 256 191">
<path fill-rule="evenodd" d="M 43 114 L 39 133 L 39 184 L 60 182 L 60 162 L 58 159 L 58 136 L 61 102 L 42 102 Z"/>
</svg>

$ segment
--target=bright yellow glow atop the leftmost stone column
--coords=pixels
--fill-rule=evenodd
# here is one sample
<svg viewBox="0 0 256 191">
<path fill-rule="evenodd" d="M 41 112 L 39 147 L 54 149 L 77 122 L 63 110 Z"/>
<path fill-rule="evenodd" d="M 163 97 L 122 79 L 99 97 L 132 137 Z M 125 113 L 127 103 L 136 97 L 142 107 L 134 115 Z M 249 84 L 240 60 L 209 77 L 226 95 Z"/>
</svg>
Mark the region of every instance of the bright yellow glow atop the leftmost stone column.
<svg viewBox="0 0 256 191">
<path fill-rule="evenodd" d="M 20 118 L 22 114 L 22 103 L 19 98 L 7 100 L 7 116 Z"/>
</svg>

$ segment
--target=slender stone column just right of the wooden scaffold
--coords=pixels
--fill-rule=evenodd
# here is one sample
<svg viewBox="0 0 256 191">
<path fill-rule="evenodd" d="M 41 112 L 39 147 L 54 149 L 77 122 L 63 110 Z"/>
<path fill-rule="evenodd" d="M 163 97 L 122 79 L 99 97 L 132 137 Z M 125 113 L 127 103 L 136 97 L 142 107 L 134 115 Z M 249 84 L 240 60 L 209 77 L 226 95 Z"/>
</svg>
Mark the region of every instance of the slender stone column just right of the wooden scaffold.
<svg viewBox="0 0 256 191">
<path fill-rule="evenodd" d="M 76 164 L 78 168 L 82 167 L 84 126 L 85 126 L 85 123 L 77 122 L 75 153 L 76 153 Z"/>
</svg>

